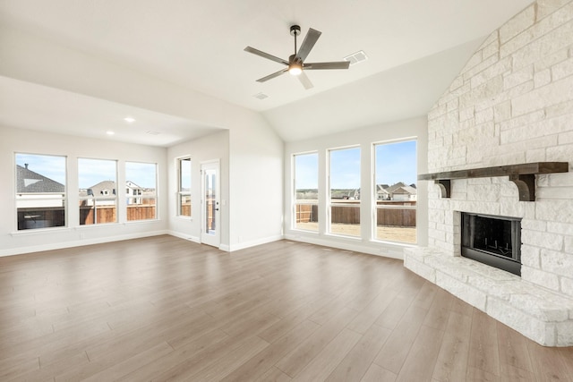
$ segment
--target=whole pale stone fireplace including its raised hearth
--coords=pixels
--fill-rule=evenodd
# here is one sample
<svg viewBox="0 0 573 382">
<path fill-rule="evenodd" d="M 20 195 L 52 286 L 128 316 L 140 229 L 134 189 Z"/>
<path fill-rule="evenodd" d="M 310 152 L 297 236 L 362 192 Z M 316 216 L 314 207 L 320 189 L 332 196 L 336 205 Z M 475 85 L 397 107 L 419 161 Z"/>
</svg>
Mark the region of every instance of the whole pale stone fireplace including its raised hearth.
<svg viewBox="0 0 573 382">
<path fill-rule="evenodd" d="M 428 114 L 428 172 L 543 161 L 569 172 L 421 178 L 437 183 L 428 246 L 404 251 L 405 267 L 548 346 L 573 345 L 571 89 L 573 1 L 538 0 L 485 38 Z M 520 276 L 461 256 L 461 211 L 520 221 Z"/>
</svg>

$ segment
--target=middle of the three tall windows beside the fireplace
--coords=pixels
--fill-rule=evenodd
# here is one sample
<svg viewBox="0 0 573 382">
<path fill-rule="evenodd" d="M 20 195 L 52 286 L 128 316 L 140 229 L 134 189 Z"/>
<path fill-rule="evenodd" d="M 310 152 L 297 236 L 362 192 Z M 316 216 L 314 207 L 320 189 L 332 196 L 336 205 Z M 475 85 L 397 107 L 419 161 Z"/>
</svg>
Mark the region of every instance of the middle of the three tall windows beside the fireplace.
<svg viewBox="0 0 573 382">
<path fill-rule="evenodd" d="M 329 159 L 329 233 L 360 237 L 360 148 L 329 150 Z"/>
</svg>

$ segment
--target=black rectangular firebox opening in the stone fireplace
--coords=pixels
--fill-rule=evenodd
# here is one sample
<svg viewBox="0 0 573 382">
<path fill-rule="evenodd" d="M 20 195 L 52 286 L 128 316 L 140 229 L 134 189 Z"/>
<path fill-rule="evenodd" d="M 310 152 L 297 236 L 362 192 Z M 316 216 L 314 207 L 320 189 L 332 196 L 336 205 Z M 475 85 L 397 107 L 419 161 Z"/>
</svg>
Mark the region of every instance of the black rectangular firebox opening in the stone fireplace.
<svg viewBox="0 0 573 382">
<path fill-rule="evenodd" d="M 521 276 L 521 219 L 462 212 L 462 256 Z"/>
</svg>

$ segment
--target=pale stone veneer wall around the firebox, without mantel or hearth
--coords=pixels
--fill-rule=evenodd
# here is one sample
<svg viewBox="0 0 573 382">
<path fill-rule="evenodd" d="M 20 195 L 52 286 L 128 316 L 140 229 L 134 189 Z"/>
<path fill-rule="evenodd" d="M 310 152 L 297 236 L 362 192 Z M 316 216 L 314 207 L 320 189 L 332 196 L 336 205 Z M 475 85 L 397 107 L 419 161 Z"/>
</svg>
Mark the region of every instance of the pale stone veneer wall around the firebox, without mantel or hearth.
<svg viewBox="0 0 573 382">
<path fill-rule="evenodd" d="M 459 255 L 458 211 L 522 217 L 522 279 L 573 296 L 573 1 L 539 0 L 494 31 L 428 115 L 428 169 L 569 162 L 522 202 L 508 177 L 429 185 L 429 247 Z"/>
</svg>

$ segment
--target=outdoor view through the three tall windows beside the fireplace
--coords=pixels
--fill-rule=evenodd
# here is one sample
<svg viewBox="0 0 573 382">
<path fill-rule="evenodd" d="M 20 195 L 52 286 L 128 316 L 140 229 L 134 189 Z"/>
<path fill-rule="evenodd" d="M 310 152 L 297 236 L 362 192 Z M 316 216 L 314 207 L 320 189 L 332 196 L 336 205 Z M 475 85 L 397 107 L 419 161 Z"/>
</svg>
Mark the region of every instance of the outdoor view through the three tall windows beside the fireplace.
<svg viewBox="0 0 573 382">
<path fill-rule="evenodd" d="M 415 140 L 374 145 L 375 232 L 390 242 L 416 242 Z M 329 151 L 329 233 L 361 237 L 360 149 Z M 295 228 L 319 231 L 318 154 L 295 156 Z"/>
</svg>

